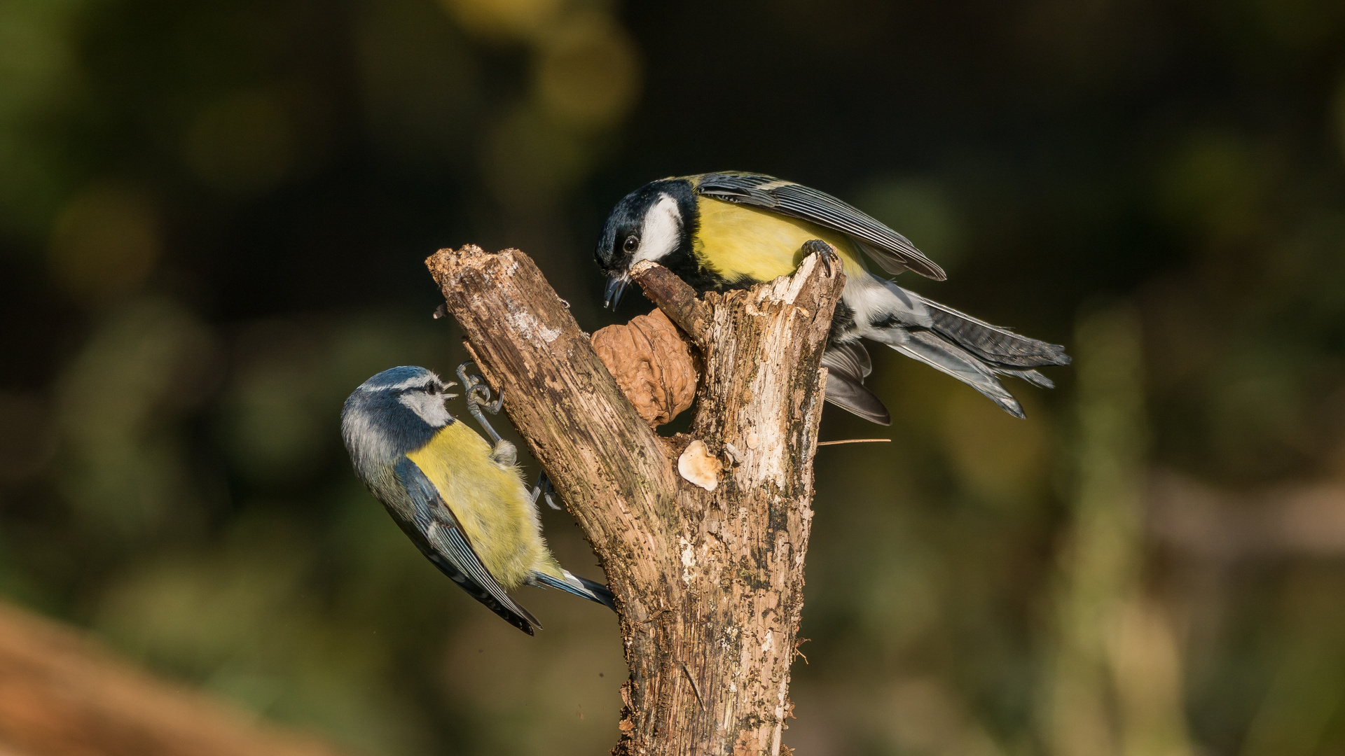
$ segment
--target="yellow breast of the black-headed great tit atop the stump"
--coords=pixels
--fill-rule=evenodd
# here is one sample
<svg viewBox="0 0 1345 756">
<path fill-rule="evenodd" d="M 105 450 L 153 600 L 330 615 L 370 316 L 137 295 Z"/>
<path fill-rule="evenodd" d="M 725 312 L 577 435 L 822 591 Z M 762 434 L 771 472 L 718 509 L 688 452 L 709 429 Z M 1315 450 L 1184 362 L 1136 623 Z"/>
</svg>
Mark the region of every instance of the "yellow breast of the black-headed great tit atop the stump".
<svg viewBox="0 0 1345 756">
<path fill-rule="evenodd" d="M 760 207 L 697 196 L 698 223 L 691 239 L 697 260 L 733 281 L 769 281 L 794 273 L 803 242 L 822 239 L 837 249 L 847 277 L 862 276 L 862 256 L 850 237 Z"/>
</svg>

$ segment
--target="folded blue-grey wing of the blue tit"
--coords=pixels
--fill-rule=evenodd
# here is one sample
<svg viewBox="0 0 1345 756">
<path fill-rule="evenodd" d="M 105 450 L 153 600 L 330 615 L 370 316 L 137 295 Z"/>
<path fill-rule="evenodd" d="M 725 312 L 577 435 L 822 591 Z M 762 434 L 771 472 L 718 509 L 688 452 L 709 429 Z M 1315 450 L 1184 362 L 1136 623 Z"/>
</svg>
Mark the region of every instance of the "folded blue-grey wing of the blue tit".
<svg viewBox="0 0 1345 756">
<path fill-rule="evenodd" d="M 453 518 L 453 511 L 438 490 L 412 460 L 397 465 L 397 476 L 416 506 L 416 530 L 424 538 L 417 543 L 434 566 L 457 582 L 469 596 L 503 617 L 514 627 L 533 635 L 533 627 L 542 627 L 531 613 L 508 597 L 495 576 L 486 569 L 476 550 L 467 541 Z"/>
</svg>

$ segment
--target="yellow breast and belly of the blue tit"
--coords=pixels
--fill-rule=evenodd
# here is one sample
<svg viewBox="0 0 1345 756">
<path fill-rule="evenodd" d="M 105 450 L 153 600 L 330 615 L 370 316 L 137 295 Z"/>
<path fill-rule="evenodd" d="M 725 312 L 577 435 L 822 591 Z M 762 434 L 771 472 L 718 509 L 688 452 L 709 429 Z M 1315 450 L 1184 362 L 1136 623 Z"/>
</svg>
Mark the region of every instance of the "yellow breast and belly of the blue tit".
<svg viewBox="0 0 1345 756">
<path fill-rule="evenodd" d="M 519 468 L 500 465 L 490 453 L 486 439 L 459 421 L 406 456 L 438 488 L 486 569 L 504 588 L 515 588 L 554 560 Z"/>
</svg>

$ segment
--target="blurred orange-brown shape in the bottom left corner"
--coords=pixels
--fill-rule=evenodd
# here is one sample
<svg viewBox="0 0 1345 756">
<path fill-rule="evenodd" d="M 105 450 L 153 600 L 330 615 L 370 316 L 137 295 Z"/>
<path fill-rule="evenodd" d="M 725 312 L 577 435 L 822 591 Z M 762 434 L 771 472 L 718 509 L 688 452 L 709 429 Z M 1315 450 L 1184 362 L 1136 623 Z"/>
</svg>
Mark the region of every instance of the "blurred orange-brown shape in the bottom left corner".
<svg viewBox="0 0 1345 756">
<path fill-rule="evenodd" d="M 3 756 L 339 756 L 0 603 Z"/>
</svg>

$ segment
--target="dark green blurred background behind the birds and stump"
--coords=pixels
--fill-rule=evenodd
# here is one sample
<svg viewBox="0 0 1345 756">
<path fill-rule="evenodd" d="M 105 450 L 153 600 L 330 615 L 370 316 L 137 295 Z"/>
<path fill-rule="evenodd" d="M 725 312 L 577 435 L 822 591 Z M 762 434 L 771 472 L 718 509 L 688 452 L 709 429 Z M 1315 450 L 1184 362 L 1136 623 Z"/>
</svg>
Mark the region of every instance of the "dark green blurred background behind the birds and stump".
<svg viewBox="0 0 1345 756">
<path fill-rule="evenodd" d="M 615 619 L 472 603 L 338 413 L 464 359 L 433 250 L 522 248 L 596 330 L 607 210 L 726 168 L 1076 356 L 1018 421 L 874 354 L 785 744 L 1345 753 L 1338 0 L 0 0 L 0 593 L 355 752 L 605 752 Z"/>
</svg>

